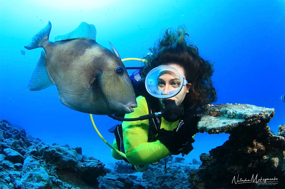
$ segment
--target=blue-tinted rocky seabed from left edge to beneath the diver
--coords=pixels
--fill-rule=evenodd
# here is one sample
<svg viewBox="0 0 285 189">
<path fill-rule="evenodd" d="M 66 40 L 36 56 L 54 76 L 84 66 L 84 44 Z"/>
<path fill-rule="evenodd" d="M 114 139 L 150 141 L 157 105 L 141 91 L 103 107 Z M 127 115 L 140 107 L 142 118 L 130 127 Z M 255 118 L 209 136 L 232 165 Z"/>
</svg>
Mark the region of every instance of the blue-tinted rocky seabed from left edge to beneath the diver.
<svg viewBox="0 0 285 189">
<path fill-rule="evenodd" d="M 133 175 L 138 172 L 124 161 L 116 162 L 114 170 L 107 169 L 100 160 L 82 155 L 81 147 L 49 145 L 0 119 L 1 189 L 188 188 L 189 171 L 197 169 L 200 163 L 182 166 L 184 159 L 175 158 L 173 162 L 172 159 L 166 158 L 167 174 L 165 161 L 161 160 L 138 178 Z"/>
</svg>

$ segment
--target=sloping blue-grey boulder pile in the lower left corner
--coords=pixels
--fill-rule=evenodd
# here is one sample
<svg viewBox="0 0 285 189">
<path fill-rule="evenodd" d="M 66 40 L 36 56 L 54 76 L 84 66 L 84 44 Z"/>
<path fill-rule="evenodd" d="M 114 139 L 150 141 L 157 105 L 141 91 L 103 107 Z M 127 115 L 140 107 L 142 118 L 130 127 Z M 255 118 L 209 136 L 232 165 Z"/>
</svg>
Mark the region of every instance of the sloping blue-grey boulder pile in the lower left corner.
<svg viewBox="0 0 285 189">
<path fill-rule="evenodd" d="M 1 137 L 2 136 L 2 137 Z M 81 148 L 51 146 L 0 119 L 0 188 L 96 188 L 105 164 Z"/>
</svg>

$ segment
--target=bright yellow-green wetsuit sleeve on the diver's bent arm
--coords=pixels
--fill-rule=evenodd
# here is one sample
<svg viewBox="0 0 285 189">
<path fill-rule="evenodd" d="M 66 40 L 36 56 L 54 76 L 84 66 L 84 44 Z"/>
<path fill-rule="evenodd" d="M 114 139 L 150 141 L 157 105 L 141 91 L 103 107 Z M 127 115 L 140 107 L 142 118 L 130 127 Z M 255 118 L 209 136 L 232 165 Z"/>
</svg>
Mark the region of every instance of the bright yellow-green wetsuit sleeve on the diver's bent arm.
<svg viewBox="0 0 285 189">
<path fill-rule="evenodd" d="M 126 114 L 125 118 L 140 117 L 148 114 L 144 97 L 137 97 L 138 107 L 134 112 Z M 168 155 L 170 151 L 160 142 L 148 142 L 149 121 L 123 121 L 123 139 L 127 160 L 133 165 L 156 162 Z"/>
</svg>

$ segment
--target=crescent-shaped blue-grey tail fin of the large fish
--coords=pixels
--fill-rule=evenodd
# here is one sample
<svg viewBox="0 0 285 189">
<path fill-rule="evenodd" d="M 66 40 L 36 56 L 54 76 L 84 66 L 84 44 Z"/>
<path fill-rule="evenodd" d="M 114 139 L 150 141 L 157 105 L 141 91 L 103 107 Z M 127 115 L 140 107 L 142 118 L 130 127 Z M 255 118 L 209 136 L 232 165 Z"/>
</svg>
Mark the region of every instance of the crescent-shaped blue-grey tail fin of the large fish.
<svg viewBox="0 0 285 189">
<path fill-rule="evenodd" d="M 50 21 L 48 21 L 48 25 L 46 25 L 46 27 L 44 27 L 44 29 L 42 29 L 40 32 L 35 34 L 32 38 L 32 41 L 24 47 L 28 50 L 43 47 L 43 42 L 48 40 L 51 29 L 52 24 L 50 23 Z"/>
</svg>

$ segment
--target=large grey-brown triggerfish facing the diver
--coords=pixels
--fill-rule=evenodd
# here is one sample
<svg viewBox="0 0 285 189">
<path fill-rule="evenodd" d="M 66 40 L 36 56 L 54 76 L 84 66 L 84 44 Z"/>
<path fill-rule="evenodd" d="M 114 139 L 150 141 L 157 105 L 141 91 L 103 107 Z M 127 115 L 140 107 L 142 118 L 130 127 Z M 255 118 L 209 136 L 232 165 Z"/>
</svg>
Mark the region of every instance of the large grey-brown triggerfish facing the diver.
<svg viewBox="0 0 285 189">
<path fill-rule="evenodd" d="M 129 74 L 118 51 L 96 42 L 96 28 L 86 22 L 49 40 L 51 23 L 24 46 L 43 48 L 27 86 L 39 91 L 56 86 L 59 101 L 70 109 L 94 115 L 132 113 L 137 107 Z"/>
</svg>

